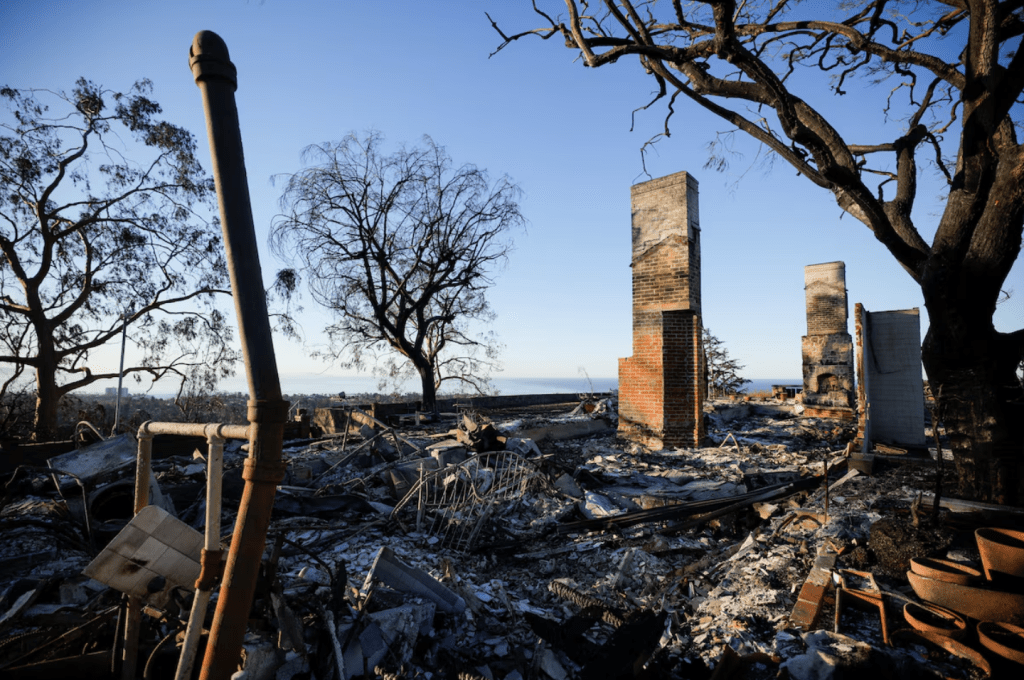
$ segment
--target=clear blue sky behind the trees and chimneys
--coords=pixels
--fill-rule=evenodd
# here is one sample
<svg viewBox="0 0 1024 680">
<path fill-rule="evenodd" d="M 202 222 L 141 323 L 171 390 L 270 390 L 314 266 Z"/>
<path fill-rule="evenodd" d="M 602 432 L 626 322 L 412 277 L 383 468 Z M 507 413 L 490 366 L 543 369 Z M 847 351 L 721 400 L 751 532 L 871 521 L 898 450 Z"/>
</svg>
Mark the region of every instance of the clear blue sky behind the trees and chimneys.
<svg viewBox="0 0 1024 680">
<path fill-rule="evenodd" d="M 564 13 L 560 2 L 540 4 Z M 582 367 L 614 377 L 617 357 L 632 353 L 630 185 L 649 178 L 640 147 L 662 130 L 665 108 L 638 113 L 631 131 L 653 81 L 635 60 L 585 69 L 558 37 L 520 41 L 488 58 L 501 40 L 484 11 L 507 33 L 540 25 L 525 0 L 4 0 L 0 84 L 70 90 L 85 76 L 127 89 L 150 78 L 165 118 L 190 129 L 205 150 L 187 54 L 197 31 L 215 31 L 239 71 L 265 278 L 283 265 L 266 242 L 281 190 L 271 177 L 298 170 L 305 145 L 371 128 L 395 144 L 429 134 L 457 164 L 507 173 L 525 193 L 526 232 L 490 291 L 506 344 L 502 375 L 573 377 Z M 851 143 L 891 139 L 898 124 L 886 122 L 879 103 L 889 87 L 848 89 L 838 100 L 820 86 L 804 96 L 834 114 Z M 781 162 L 766 170 L 739 135 L 727 171 L 703 168 L 708 143 L 726 128 L 680 100 L 673 135 L 648 155 L 647 170 L 653 177 L 686 170 L 700 182 L 703 323 L 745 375 L 800 376 L 806 264 L 845 261 L 851 311 L 854 302 L 869 310 L 922 307 L 924 334 L 920 290 L 829 193 Z M 914 217 L 927 241 L 941 210 L 929 199 L 939 192 L 927 182 L 920 192 Z M 1002 331 L 1024 320 L 1020 261 L 1007 287 L 1015 295 L 997 310 Z M 308 296 L 303 304 L 307 342 L 318 342 L 328 315 Z M 286 391 L 289 376 L 345 374 L 311 363 L 308 347 L 276 343 Z M 116 351 L 95 360 L 116 360 Z"/>
</svg>

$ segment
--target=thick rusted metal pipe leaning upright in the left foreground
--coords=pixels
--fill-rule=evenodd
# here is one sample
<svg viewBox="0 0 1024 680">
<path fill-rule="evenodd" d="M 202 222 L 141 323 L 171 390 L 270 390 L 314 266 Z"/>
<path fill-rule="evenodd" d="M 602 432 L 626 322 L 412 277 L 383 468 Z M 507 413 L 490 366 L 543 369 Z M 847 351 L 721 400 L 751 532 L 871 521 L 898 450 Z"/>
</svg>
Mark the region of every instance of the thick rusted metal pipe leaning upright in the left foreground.
<svg viewBox="0 0 1024 680">
<path fill-rule="evenodd" d="M 238 669 L 273 496 L 285 476 L 281 450 L 288 402 L 281 394 L 249 203 L 242 131 L 234 105 L 234 65 L 224 41 L 211 31 L 196 34 L 188 65 L 203 95 L 224 250 L 249 381 L 251 429 L 249 459 L 243 472 L 246 486 L 200 676 L 201 680 L 228 680 Z"/>
</svg>

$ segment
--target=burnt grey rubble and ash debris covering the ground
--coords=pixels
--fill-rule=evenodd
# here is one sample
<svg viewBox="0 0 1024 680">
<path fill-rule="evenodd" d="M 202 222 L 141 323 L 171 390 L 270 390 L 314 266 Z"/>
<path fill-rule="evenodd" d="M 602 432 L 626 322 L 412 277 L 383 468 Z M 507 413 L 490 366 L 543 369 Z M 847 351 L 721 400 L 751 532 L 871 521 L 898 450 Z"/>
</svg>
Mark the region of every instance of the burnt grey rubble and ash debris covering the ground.
<svg viewBox="0 0 1024 680">
<path fill-rule="evenodd" d="M 911 557 L 982 570 L 974 530 L 1019 529 L 1021 513 L 934 516 L 921 498 L 951 463 L 874 452 L 870 474 L 848 467 L 854 423 L 800 417 L 792 400 L 716 401 L 703 447 L 651 450 L 615 436 L 610 396 L 400 427 L 359 413 L 285 442 L 237 678 L 1019 675 L 974 622 L 946 643 L 902 609 L 920 600 Z M 97 494 L 134 479 L 127 459 L 94 470 L 81 450 L 51 463 L 82 472 L 85 488 L 42 468 L 4 480 L 0 674 L 115 677 L 124 591 L 145 603 L 139 675 L 173 677 L 206 522 L 205 455 L 154 460 L 159 512 L 128 528 L 130 498 L 89 513 Z M 222 547 L 245 456 L 227 442 Z M 147 538 L 119 547 L 140 522 Z M 128 567 L 147 576 L 119 586 Z M 1020 580 L 993 583 L 1011 592 Z M 1008 619 L 985 639 L 1014 642 L 1022 622 Z"/>
</svg>

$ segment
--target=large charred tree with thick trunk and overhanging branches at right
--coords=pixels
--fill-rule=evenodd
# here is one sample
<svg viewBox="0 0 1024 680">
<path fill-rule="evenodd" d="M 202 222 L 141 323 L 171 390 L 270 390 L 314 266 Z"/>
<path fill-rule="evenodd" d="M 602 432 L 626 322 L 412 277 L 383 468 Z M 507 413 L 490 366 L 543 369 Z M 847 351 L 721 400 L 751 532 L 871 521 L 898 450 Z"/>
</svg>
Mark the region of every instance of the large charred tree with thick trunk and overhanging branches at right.
<svg viewBox="0 0 1024 680">
<path fill-rule="evenodd" d="M 635 56 L 657 86 L 642 108 L 668 103 L 664 136 L 686 100 L 725 121 L 726 134 L 746 133 L 833 193 L 921 286 L 931 320 L 923 358 L 946 400 L 961 491 L 1024 500 L 1024 394 L 1014 377 L 1024 329 L 999 333 L 992 323 L 1024 225 L 1020 0 L 565 0 L 564 7 L 563 20 L 535 3 L 543 26 L 514 35 L 492 19 L 504 40 L 499 50 L 526 36 L 559 36 L 587 67 Z M 801 78 L 791 78 L 798 70 Z M 854 143 L 829 122 L 823 95 L 846 94 L 856 78 L 892 86 L 873 128 L 883 134 L 886 121 L 901 120 L 891 138 Z M 713 146 L 711 164 L 721 160 Z M 944 211 L 929 225 L 931 245 L 912 215 L 929 163 L 947 186 Z"/>
</svg>

